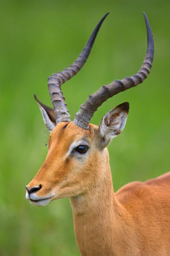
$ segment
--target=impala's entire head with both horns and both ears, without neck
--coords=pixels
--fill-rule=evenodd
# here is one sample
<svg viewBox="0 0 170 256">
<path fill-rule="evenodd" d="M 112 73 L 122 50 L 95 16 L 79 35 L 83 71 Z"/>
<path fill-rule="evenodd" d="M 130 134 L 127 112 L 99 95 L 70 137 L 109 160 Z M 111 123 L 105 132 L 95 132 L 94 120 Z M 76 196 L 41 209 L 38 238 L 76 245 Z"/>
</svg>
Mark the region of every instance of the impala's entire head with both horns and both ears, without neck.
<svg viewBox="0 0 170 256">
<path fill-rule="evenodd" d="M 93 95 L 89 95 L 86 102 L 81 105 L 80 111 L 76 113 L 74 121 L 70 121 L 61 85 L 74 76 L 86 62 L 99 28 L 107 15 L 108 13 L 95 27 L 79 58 L 68 69 L 52 74 L 48 78 L 53 109 L 39 102 L 34 95 L 43 120 L 51 132 L 47 158 L 26 186 L 26 198 L 34 205 L 45 206 L 54 199 L 78 196 L 100 183 L 104 167 L 108 163 L 106 147 L 110 140 L 124 129 L 129 103 L 122 103 L 105 114 L 99 126 L 90 124 L 90 119 L 105 100 L 140 84 L 150 72 L 154 57 L 154 41 L 144 13 L 148 40 L 147 53 L 140 71 L 131 77 L 101 86 Z"/>
</svg>

